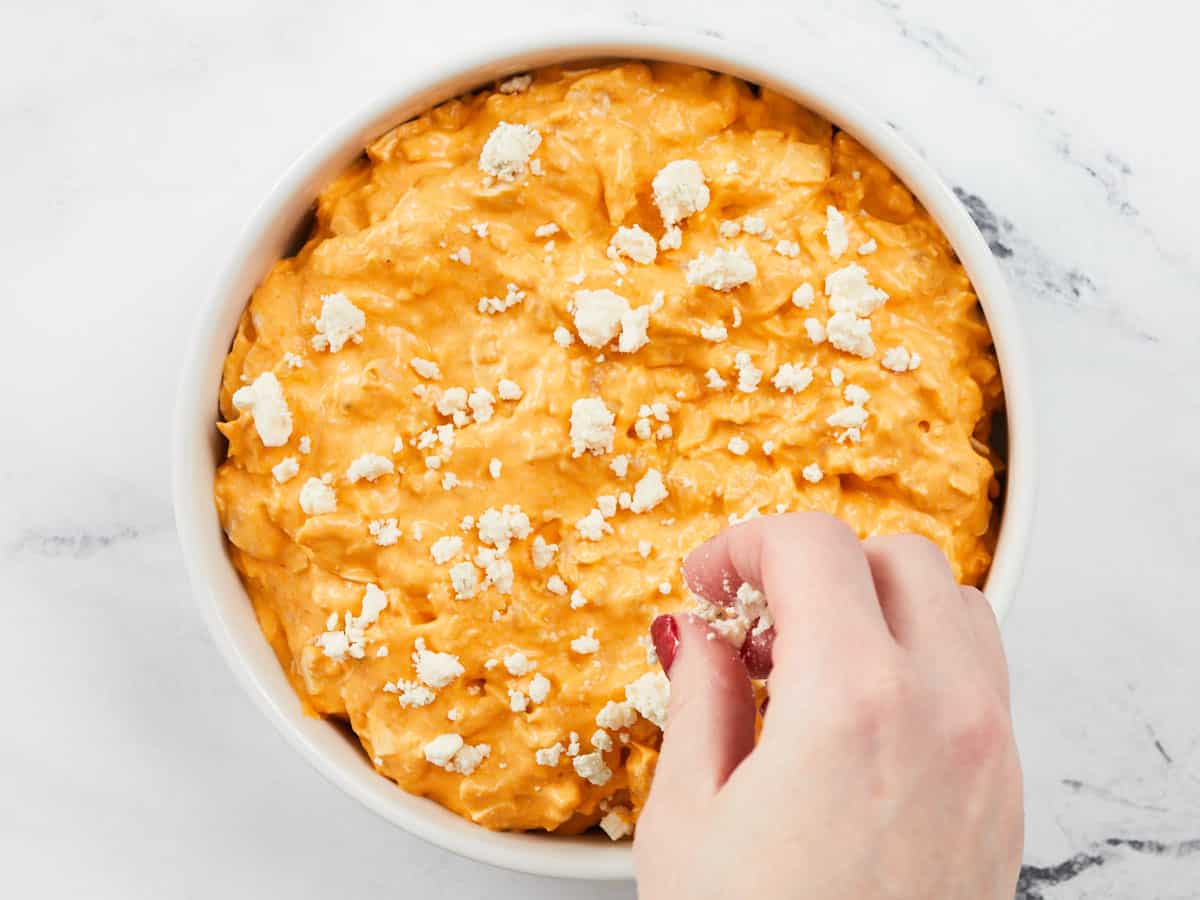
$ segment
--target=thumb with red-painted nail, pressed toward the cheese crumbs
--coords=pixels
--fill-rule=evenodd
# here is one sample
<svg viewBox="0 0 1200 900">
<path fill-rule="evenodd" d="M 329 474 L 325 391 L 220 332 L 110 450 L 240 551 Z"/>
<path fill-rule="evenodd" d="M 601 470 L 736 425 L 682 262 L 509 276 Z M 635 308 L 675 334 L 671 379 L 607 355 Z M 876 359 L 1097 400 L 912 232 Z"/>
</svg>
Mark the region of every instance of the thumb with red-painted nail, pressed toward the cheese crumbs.
<svg viewBox="0 0 1200 900">
<path fill-rule="evenodd" d="M 660 616 L 650 635 L 671 703 L 648 805 L 678 812 L 712 798 L 754 749 L 754 691 L 733 648 L 700 619 Z"/>
</svg>

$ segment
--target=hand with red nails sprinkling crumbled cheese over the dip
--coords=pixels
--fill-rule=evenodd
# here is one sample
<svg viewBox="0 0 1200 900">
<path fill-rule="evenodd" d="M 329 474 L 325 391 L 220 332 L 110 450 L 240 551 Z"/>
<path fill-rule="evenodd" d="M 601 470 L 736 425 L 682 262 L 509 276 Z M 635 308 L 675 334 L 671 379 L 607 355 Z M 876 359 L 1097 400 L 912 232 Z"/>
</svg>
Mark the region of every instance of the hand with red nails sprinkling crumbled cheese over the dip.
<svg viewBox="0 0 1200 900">
<path fill-rule="evenodd" d="M 766 593 L 770 703 L 756 745 L 739 655 L 697 619 L 655 620 L 671 707 L 638 896 L 1010 900 L 1021 772 L 983 594 L 923 538 L 860 544 L 821 514 L 722 532 L 685 574 L 713 601 Z"/>
</svg>

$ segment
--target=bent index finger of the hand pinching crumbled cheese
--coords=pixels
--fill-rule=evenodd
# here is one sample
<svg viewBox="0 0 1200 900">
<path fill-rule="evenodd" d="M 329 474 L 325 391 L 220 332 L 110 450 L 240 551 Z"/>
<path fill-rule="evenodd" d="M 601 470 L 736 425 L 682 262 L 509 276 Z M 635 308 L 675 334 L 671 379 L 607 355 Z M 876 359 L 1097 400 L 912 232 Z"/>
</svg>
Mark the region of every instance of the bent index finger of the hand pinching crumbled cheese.
<svg viewBox="0 0 1200 900">
<path fill-rule="evenodd" d="M 730 601 L 742 582 L 766 593 L 775 623 L 773 694 L 793 680 L 776 685 L 781 666 L 845 666 L 892 644 L 862 545 L 832 516 L 799 512 L 730 528 L 688 557 L 684 575 L 710 602 Z M 763 648 L 751 648 L 751 661 L 761 660 Z"/>
</svg>

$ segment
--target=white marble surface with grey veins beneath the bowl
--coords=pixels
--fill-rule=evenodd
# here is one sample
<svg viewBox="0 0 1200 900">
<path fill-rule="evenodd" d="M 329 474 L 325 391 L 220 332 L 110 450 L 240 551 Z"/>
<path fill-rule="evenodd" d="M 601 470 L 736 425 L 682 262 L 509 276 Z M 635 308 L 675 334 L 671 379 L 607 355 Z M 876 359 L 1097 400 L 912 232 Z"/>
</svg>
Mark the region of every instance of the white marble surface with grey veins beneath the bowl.
<svg viewBox="0 0 1200 900">
<path fill-rule="evenodd" d="M 1037 533 L 1006 628 L 1028 797 L 1020 895 L 1200 895 L 1195 13 L 1171 0 L 182 6 L 0 7 L 6 895 L 632 895 L 457 859 L 322 781 L 209 642 L 168 496 L 188 323 L 281 168 L 464 30 L 538 29 L 565 8 L 809 60 L 982 198 L 1031 338 L 1042 438 Z"/>
</svg>

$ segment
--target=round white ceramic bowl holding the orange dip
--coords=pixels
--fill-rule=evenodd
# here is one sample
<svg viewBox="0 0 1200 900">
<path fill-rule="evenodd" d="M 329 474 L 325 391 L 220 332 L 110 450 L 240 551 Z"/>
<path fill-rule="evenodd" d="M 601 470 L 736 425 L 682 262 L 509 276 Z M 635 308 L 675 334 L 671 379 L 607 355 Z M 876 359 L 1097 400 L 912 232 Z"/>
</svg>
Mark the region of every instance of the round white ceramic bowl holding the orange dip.
<svg viewBox="0 0 1200 900">
<path fill-rule="evenodd" d="M 498 834 L 412 797 L 376 774 L 356 742 L 334 725 L 304 714 L 254 620 L 226 551 L 212 500 L 215 468 L 224 442 L 217 434 L 221 367 L 238 319 L 254 287 L 306 227 L 317 193 L 362 148 L 394 125 L 496 78 L 539 66 L 595 58 L 688 62 L 739 76 L 785 94 L 845 128 L 871 149 L 917 194 L 941 224 L 988 316 L 1004 379 L 1009 428 L 1007 496 L 988 577 L 988 596 L 1003 616 L 1016 589 L 1033 514 L 1033 414 L 1030 371 L 1016 313 L 983 236 L 954 194 L 900 137 L 840 91 L 823 86 L 796 56 L 767 59 L 725 41 L 647 28 L 576 29 L 574 32 L 493 41 L 490 49 L 458 54 L 440 70 L 412 73 L 348 121 L 320 138 L 280 179 L 233 246 L 228 268 L 205 299 L 180 378 L 173 444 L 175 523 L 188 575 L 209 628 L 246 691 L 283 736 L 325 778 L 406 830 L 472 859 L 536 875 L 629 878 L 628 842 L 604 838 Z"/>
</svg>

